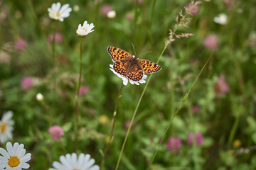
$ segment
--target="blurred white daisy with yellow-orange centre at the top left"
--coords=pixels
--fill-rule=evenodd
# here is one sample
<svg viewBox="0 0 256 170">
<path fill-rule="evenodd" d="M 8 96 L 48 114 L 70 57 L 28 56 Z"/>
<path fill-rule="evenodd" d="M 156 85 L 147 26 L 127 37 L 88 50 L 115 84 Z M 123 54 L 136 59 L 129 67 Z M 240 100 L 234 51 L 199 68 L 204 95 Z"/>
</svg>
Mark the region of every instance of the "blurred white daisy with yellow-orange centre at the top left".
<svg viewBox="0 0 256 170">
<path fill-rule="evenodd" d="M 63 21 L 64 18 L 67 18 L 70 16 L 70 12 L 72 11 L 72 8 L 69 7 L 69 4 L 65 4 L 61 6 L 60 2 L 57 2 L 56 4 L 52 4 L 50 8 L 48 8 L 49 16 L 52 19 Z"/>
</svg>

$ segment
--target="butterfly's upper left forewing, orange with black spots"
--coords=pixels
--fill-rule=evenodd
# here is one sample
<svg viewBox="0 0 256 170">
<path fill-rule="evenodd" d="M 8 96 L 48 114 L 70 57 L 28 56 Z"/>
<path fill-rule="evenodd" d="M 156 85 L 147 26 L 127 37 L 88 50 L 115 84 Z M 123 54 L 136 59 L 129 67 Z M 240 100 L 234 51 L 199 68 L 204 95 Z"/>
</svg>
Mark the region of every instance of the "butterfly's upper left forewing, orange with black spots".
<svg viewBox="0 0 256 170">
<path fill-rule="evenodd" d="M 110 54 L 112 60 L 114 61 L 132 58 L 132 55 L 129 54 L 129 52 L 126 52 L 117 47 L 107 47 L 107 52 Z"/>
</svg>

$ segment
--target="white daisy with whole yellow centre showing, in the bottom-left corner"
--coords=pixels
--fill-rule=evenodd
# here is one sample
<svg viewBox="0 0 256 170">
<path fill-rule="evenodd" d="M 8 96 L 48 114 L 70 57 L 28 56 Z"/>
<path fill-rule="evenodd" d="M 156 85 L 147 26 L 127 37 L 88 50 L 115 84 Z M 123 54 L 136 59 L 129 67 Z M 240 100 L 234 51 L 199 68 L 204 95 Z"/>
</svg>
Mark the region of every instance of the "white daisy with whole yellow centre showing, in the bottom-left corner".
<svg viewBox="0 0 256 170">
<path fill-rule="evenodd" d="M 6 151 L 7 149 L 7 151 Z M 25 154 L 26 149 L 24 145 L 18 145 L 14 143 L 14 147 L 11 142 L 7 142 L 6 149 L 0 148 L 0 169 L 4 170 L 21 170 L 28 169 L 29 164 L 26 163 L 31 159 L 31 154 Z"/>
</svg>

